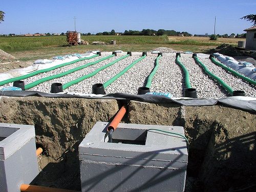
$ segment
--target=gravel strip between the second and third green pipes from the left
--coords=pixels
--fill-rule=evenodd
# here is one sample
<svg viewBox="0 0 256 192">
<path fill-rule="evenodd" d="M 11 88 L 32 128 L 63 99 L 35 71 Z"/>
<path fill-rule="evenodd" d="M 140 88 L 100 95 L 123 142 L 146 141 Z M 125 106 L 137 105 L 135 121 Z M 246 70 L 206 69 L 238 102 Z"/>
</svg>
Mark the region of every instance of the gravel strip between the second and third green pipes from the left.
<svg viewBox="0 0 256 192">
<path fill-rule="evenodd" d="M 100 68 L 101 66 L 104 66 L 114 60 L 116 60 L 118 58 L 118 56 L 114 56 L 114 57 L 111 57 L 109 59 L 106 59 L 106 60 L 103 60 L 95 65 L 92 65 L 92 66 L 89 66 L 87 68 L 84 68 L 82 70 L 79 70 L 79 71 L 76 71 L 70 75 L 66 75 L 66 76 L 63 76 L 63 77 L 60 77 L 60 78 L 56 78 L 56 79 L 52 79 L 50 81 L 46 81 L 44 83 L 41 83 L 41 84 L 38 84 L 38 86 L 36 87 L 33 87 L 29 90 L 34 90 L 34 91 L 42 91 L 42 92 L 49 92 L 51 90 L 51 84 L 54 83 L 54 82 L 60 82 L 62 84 L 65 84 L 71 80 L 74 80 L 74 79 L 77 79 L 83 75 L 86 75 L 86 74 L 89 74 L 89 73 L 92 73 L 93 71 L 95 71 L 96 69 Z M 99 59 L 99 58 L 98 58 Z M 98 60 L 96 59 L 96 60 Z M 83 61 L 80 61 L 80 62 L 83 62 Z M 85 63 L 80 63 L 80 65 L 84 65 Z"/>
</svg>

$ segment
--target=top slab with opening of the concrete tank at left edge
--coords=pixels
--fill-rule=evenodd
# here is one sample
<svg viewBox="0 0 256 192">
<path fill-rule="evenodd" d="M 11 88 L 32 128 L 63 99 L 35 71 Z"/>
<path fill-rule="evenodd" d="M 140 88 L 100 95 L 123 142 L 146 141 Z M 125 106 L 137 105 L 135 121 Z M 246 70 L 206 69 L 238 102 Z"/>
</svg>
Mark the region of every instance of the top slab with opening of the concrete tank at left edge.
<svg viewBox="0 0 256 192">
<path fill-rule="evenodd" d="M 5 160 L 35 137 L 33 125 L 0 123 L 0 160 Z"/>
</svg>

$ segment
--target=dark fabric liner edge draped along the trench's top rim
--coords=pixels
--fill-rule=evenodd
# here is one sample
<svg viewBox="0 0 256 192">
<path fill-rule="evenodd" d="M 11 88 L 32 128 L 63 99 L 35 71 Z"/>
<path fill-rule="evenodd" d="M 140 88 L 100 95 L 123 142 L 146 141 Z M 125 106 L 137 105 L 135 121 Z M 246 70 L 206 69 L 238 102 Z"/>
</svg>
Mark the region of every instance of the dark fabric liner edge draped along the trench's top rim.
<svg viewBox="0 0 256 192">
<path fill-rule="evenodd" d="M 0 91 L 0 96 L 8 96 L 8 97 L 29 97 L 29 96 L 37 96 L 37 97 L 51 97 L 51 98 L 86 98 L 86 99 L 116 99 L 123 101 L 141 101 L 141 102 L 149 102 L 149 103 L 177 103 L 185 106 L 210 106 L 215 105 L 217 103 L 221 103 L 227 106 L 231 106 L 232 108 L 242 109 L 246 111 L 256 112 L 256 100 L 250 101 L 241 101 L 238 99 L 234 99 L 232 97 L 226 97 L 221 99 L 181 99 L 174 100 L 168 98 L 166 96 L 159 95 L 131 95 L 124 93 L 113 93 L 108 94 L 103 97 L 90 97 L 90 96 L 82 96 L 82 95 L 72 95 L 72 94 L 52 94 L 38 91 Z"/>
</svg>

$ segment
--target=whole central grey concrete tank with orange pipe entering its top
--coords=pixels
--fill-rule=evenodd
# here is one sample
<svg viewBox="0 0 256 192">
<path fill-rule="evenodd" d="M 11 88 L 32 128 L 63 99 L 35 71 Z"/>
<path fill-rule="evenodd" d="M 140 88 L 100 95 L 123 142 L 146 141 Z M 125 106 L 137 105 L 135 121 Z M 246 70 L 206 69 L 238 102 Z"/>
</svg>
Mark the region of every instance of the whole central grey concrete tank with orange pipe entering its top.
<svg viewBox="0 0 256 192">
<path fill-rule="evenodd" d="M 119 123 L 108 142 L 97 122 L 79 145 L 82 191 L 184 191 L 188 153 L 181 126 Z"/>
</svg>

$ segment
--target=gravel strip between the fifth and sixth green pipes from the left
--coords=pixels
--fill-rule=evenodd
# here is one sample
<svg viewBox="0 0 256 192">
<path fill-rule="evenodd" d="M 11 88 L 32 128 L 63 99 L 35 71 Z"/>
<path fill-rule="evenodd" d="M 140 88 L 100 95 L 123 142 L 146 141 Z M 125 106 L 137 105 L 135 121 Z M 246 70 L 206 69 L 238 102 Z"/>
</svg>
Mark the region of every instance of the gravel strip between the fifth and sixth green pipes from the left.
<svg viewBox="0 0 256 192">
<path fill-rule="evenodd" d="M 182 97 L 185 88 L 184 79 L 175 56 L 163 56 L 159 59 L 158 70 L 152 79 L 151 91 L 170 93 L 174 97 Z"/>
</svg>

